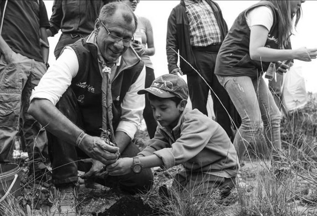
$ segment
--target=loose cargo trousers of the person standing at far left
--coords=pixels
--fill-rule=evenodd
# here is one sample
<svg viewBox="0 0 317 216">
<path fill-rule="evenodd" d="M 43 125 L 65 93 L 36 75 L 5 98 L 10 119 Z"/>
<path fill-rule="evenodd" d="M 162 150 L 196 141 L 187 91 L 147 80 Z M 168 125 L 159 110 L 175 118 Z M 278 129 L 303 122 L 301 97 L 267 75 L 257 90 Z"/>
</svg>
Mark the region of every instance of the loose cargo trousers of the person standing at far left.
<svg viewBox="0 0 317 216">
<path fill-rule="evenodd" d="M 11 161 L 21 118 L 30 168 L 33 169 L 33 163 L 35 170 L 45 168 L 46 132 L 28 114 L 32 89 L 38 85 L 45 71 L 43 62 L 16 52 L 12 53 L 11 59 L 5 59 L 3 55 L 0 57 L 0 163 Z"/>
</svg>

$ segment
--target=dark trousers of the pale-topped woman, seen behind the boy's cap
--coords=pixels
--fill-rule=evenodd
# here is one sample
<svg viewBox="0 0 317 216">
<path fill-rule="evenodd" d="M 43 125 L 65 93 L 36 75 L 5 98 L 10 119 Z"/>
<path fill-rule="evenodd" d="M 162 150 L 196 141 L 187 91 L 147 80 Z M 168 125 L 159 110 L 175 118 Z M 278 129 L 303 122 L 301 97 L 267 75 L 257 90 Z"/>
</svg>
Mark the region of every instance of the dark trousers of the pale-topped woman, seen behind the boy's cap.
<svg viewBox="0 0 317 216">
<path fill-rule="evenodd" d="M 153 80 L 155 80 L 154 70 L 150 67 L 145 67 L 146 77 L 145 77 L 145 88 L 151 86 Z M 145 94 L 145 108 L 143 110 L 143 118 L 146 124 L 147 132 L 150 138 L 154 137 L 157 122 L 154 119 L 151 104 L 148 99 L 148 94 Z"/>
</svg>

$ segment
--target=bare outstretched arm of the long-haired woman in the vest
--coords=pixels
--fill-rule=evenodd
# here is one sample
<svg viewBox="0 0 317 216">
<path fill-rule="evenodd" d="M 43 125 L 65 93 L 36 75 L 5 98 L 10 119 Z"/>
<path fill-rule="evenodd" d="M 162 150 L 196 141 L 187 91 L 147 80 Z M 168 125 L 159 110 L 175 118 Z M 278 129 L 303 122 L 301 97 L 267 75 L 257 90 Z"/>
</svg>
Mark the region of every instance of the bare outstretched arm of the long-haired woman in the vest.
<svg viewBox="0 0 317 216">
<path fill-rule="evenodd" d="M 301 47 L 298 49 L 272 49 L 265 47 L 269 30 L 261 25 L 251 27 L 250 34 L 250 57 L 258 61 L 284 61 L 288 59 L 298 59 L 311 61 L 316 58 L 317 48 L 308 49 Z"/>
</svg>

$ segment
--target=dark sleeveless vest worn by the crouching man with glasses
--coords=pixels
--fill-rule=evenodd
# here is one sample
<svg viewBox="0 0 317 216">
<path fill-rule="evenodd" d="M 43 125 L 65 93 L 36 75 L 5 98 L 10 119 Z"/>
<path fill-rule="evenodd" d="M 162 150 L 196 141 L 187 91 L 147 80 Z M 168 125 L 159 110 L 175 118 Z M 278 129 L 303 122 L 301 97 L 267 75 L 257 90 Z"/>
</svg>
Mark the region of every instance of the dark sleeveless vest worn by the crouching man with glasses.
<svg viewBox="0 0 317 216">
<path fill-rule="evenodd" d="M 87 38 L 83 38 L 70 45 L 77 55 L 79 64 L 78 73 L 72 79 L 70 88 L 76 95 L 78 106 L 83 115 L 83 127 L 91 135 L 99 136 L 99 128 L 102 126 L 102 76 L 98 65 L 97 47 L 95 44 L 86 43 L 86 40 Z M 120 121 L 121 102 L 130 86 L 139 77 L 143 65 L 143 62 L 139 60 L 135 65 L 121 71 L 112 81 L 112 125 L 114 130 Z"/>
</svg>

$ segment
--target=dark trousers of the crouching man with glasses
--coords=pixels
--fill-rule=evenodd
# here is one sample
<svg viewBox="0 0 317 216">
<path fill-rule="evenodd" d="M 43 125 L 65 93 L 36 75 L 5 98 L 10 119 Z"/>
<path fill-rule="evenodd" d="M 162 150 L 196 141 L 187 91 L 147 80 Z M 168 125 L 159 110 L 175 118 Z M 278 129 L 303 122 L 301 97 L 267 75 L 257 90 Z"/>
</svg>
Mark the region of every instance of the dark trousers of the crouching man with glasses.
<svg viewBox="0 0 317 216">
<path fill-rule="evenodd" d="M 82 124 L 82 118 L 88 116 L 82 116 L 81 110 L 77 105 L 76 96 L 70 88 L 60 98 L 56 107 L 77 126 L 83 128 L 85 131 L 87 129 L 91 131 L 92 128 L 85 128 Z M 100 134 L 98 128 L 95 131 L 94 134 L 90 135 L 96 136 Z M 89 171 L 91 166 L 80 162 L 81 159 L 88 158 L 88 156 L 82 150 L 75 147 L 73 143 L 66 143 L 53 134 L 48 133 L 48 145 L 52 163 L 52 178 L 55 185 L 76 182 L 78 180 L 77 170 Z M 134 157 L 139 152 L 137 146 L 131 142 L 123 151 L 121 157 Z M 131 172 L 123 176 L 107 176 L 105 179 L 93 180 L 108 187 L 118 186 L 123 191 L 135 193 L 148 190 L 152 184 L 153 175 L 150 169 L 143 169 L 140 174 Z"/>
</svg>

